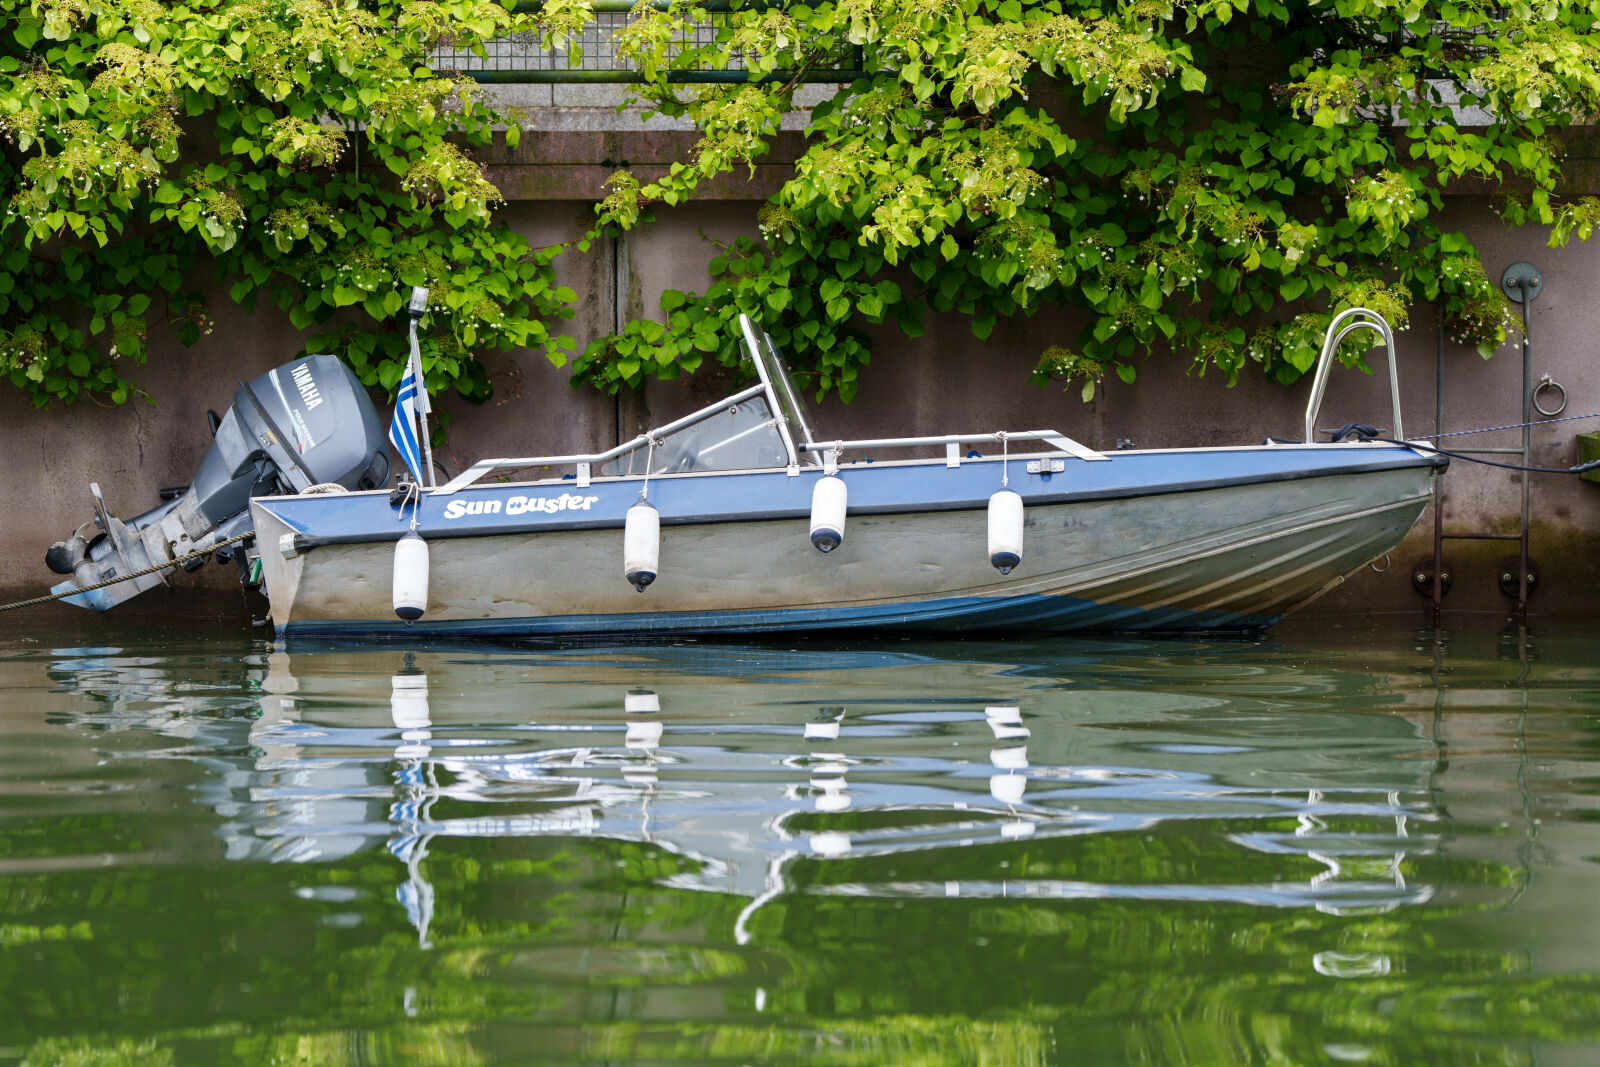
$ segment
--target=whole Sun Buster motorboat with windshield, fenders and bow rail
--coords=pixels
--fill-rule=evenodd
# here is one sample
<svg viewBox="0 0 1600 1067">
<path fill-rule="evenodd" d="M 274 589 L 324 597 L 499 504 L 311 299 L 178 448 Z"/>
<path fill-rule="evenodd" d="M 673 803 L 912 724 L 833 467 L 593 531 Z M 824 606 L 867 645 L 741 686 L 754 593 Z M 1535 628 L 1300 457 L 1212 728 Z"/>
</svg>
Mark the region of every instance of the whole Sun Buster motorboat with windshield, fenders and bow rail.
<svg viewBox="0 0 1600 1067">
<path fill-rule="evenodd" d="M 304 427 L 338 453 L 331 474 L 309 451 L 250 466 L 238 445 L 219 464 L 256 486 L 245 581 L 278 635 L 307 638 L 1261 630 L 1394 549 L 1448 462 L 1398 443 L 1394 334 L 1365 309 L 1330 326 L 1304 440 L 1112 453 L 1056 430 L 826 438 L 778 346 L 739 326 L 749 387 L 603 453 L 483 459 L 442 485 L 378 480 L 376 418 L 314 426 L 302 382 L 358 408 L 338 365 L 274 371 L 270 426 L 242 386 L 240 437 L 283 451 Z M 1317 442 L 1333 355 L 1360 331 L 1387 346 L 1392 437 Z M 75 558 L 77 577 L 122 566 Z"/>
</svg>

